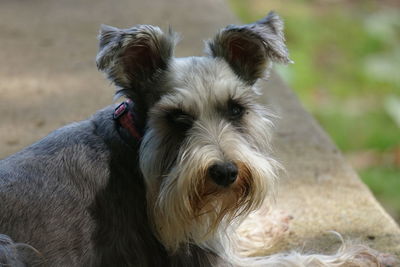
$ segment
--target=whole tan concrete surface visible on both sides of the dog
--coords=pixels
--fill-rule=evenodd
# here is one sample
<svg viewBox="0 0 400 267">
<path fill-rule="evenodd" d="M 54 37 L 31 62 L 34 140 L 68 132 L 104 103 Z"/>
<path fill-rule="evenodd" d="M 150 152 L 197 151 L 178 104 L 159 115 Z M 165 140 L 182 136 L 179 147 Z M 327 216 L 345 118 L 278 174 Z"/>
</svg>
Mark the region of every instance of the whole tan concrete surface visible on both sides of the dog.
<svg viewBox="0 0 400 267">
<path fill-rule="evenodd" d="M 222 0 L 2 0 L 0 158 L 112 102 L 114 88 L 94 62 L 101 23 L 171 25 L 184 37 L 177 55 L 188 56 L 235 22 Z M 264 86 L 263 101 L 281 116 L 274 147 L 287 170 L 277 208 L 294 218 L 287 238 L 265 253 L 330 251 L 338 240 L 327 231 L 335 230 L 400 256 L 399 227 L 292 91 L 276 76 Z"/>
</svg>

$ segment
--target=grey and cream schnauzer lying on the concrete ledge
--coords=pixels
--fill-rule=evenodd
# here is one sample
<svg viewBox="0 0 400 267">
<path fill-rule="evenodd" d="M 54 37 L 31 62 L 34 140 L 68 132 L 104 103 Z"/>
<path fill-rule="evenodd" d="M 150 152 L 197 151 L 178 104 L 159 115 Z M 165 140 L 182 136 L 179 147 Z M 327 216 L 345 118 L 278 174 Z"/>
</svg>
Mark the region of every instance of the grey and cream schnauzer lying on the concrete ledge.
<svg viewBox="0 0 400 267">
<path fill-rule="evenodd" d="M 291 62 L 283 23 L 271 12 L 227 26 L 202 57 L 175 58 L 178 39 L 102 26 L 97 66 L 127 100 L 1 160 L 0 265 L 379 264 L 360 246 L 242 255 L 252 242 L 238 229 L 273 196 L 280 168 L 257 81 Z"/>
</svg>

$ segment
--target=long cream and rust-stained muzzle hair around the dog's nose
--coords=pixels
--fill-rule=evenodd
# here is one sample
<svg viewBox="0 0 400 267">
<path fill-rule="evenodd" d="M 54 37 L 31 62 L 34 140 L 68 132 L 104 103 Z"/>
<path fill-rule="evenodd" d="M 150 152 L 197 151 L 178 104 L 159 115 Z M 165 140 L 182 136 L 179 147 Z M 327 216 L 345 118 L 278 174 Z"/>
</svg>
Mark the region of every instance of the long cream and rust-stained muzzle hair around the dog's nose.
<svg viewBox="0 0 400 267">
<path fill-rule="evenodd" d="M 225 140 L 224 151 L 230 151 L 239 171 L 229 187 L 216 185 L 207 175 L 208 167 L 221 157 L 218 150 L 189 139 L 169 174 L 149 190 L 151 221 L 170 252 L 182 244 L 204 245 L 271 195 L 276 162 L 240 137 Z"/>
</svg>

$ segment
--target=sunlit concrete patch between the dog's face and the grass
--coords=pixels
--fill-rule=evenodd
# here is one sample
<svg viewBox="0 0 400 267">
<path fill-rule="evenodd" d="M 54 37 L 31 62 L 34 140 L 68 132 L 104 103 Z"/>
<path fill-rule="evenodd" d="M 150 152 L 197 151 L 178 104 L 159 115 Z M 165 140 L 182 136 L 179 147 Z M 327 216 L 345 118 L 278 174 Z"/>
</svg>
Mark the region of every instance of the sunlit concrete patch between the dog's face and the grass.
<svg viewBox="0 0 400 267">
<path fill-rule="evenodd" d="M 281 117 L 273 144 L 287 171 L 276 208 L 293 216 L 288 238 L 266 253 L 294 248 L 329 252 L 340 243 L 329 234 L 333 230 L 399 256 L 398 225 L 330 138 L 277 76 L 263 86 L 263 102 Z"/>
</svg>

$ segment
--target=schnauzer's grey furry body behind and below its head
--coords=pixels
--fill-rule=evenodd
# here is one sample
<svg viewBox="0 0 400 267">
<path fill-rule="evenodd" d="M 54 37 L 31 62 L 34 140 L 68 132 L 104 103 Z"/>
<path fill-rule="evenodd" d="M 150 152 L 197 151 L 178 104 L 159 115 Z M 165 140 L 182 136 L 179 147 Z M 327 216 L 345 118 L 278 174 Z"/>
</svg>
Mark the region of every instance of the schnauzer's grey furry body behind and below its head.
<svg viewBox="0 0 400 267">
<path fill-rule="evenodd" d="M 0 161 L 1 232 L 40 252 L 17 246 L 16 261 L 32 264 L 35 259 L 40 266 L 210 265 L 204 255 L 196 256 L 196 247 L 168 257 L 155 238 L 138 171 L 139 140 L 120 133 L 126 130 L 113 120 L 114 108 L 58 129 Z"/>
</svg>

